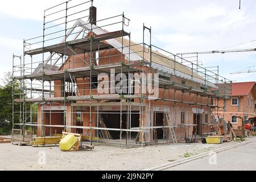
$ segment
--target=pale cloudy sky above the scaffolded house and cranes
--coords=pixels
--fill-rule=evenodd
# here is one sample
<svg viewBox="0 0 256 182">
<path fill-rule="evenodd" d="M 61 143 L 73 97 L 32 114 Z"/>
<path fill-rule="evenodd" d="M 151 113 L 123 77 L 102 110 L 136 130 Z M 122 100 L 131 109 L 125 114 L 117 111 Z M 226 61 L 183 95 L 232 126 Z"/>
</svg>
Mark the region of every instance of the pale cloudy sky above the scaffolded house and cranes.
<svg viewBox="0 0 256 182">
<path fill-rule="evenodd" d="M 0 78 L 12 71 L 12 55 L 23 55 L 23 39 L 43 34 L 44 10 L 64 2 L 3 1 L 0 6 Z M 85 1 L 72 0 L 74 5 Z M 94 0 L 97 19 L 120 15 L 131 20 L 127 32 L 142 43 L 143 23 L 152 27 L 152 44 L 172 53 L 256 48 L 256 1 L 242 0 Z M 146 40 L 147 41 L 147 40 Z M 219 66 L 229 80 L 255 81 L 256 52 L 199 55 L 202 67 Z"/>
</svg>

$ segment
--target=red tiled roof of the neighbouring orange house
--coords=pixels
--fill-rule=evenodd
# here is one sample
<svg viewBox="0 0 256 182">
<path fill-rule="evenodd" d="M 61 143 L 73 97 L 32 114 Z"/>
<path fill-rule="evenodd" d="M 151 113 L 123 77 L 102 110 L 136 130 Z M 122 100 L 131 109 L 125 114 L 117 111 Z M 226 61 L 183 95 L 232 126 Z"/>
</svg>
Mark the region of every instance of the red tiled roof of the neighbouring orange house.
<svg viewBox="0 0 256 182">
<path fill-rule="evenodd" d="M 255 87 L 255 81 L 232 83 L 232 96 L 247 96 Z"/>
</svg>

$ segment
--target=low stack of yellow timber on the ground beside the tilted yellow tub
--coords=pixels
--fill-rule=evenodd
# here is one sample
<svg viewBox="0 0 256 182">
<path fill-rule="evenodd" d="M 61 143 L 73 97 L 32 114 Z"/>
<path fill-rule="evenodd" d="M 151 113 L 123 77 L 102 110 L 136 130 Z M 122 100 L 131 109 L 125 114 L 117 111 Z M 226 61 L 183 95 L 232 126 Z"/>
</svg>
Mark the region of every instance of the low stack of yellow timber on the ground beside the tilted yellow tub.
<svg viewBox="0 0 256 182">
<path fill-rule="evenodd" d="M 59 144 L 62 137 L 36 137 L 32 138 L 32 146 L 44 146 L 48 144 Z"/>
</svg>

